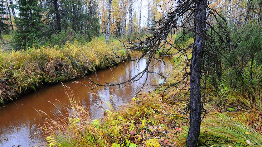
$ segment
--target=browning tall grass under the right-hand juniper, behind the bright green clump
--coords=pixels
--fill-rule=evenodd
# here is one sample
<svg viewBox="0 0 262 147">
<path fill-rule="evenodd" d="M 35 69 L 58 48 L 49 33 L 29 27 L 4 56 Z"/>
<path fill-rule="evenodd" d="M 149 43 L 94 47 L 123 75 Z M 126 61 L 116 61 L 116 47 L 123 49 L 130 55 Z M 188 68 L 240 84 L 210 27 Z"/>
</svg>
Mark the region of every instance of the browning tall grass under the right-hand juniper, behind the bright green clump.
<svg viewBox="0 0 262 147">
<path fill-rule="evenodd" d="M 238 90 L 220 86 L 219 90 L 207 93 L 208 109 L 217 106 L 221 111 L 226 111 L 227 116 L 232 116 L 257 131 L 262 131 L 261 85 L 249 84 Z"/>
</svg>

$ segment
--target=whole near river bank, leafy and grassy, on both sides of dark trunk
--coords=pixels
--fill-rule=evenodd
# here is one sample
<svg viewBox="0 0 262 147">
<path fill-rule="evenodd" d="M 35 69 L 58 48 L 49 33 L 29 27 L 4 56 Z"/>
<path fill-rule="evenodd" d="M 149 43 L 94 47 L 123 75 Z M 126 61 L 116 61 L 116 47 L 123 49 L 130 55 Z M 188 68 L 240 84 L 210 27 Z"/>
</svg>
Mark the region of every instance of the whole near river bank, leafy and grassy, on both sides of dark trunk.
<svg viewBox="0 0 262 147">
<path fill-rule="evenodd" d="M 183 67 L 183 58 L 174 57 L 177 69 Z M 181 65 L 179 65 L 181 64 Z M 176 83 L 173 70 L 167 85 Z M 176 78 L 174 78 L 176 77 Z M 70 113 L 62 118 L 45 119 L 42 130 L 49 146 L 103 146 L 103 147 L 182 147 L 186 145 L 189 120 L 187 102 L 189 81 L 172 87 L 164 98 L 161 89 L 142 92 L 133 102 L 114 109 L 104 110 L 101 119 L 92 119 L 88 110 L 70 89 L 65 87 Z M 181 91 L 179 87 L 183 87 Z M 252 86 L 252 85 L 249 85 Z M 252 89 L 255 89 L 252 92 Z M 203 97 L 206 115 L 202 119 L 198 146 L 243 147 L 262 146 L 261 118 L 262 90 L 259 85 L 235 90 L 221 88 L 224 95 L 217 97 L 209 84 Z M 182 95 L 179 95 L 182 93 Z M 179 98 L 179 99 L 172 99 Z M 172 100 L 172 101 L 171 101 Z M 223 102 L 222 106 L 219 102 Z M 185 113 L 183 113 L 185 112 Z M 44 117 L 45 115 L 43 115 Z"/>
</svg>

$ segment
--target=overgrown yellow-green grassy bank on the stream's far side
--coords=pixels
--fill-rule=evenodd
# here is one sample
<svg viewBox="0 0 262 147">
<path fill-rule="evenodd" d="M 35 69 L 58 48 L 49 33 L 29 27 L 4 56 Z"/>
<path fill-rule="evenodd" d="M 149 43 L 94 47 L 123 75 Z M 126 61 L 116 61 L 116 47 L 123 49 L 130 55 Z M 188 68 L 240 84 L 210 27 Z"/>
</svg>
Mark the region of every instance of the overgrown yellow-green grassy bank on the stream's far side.
<svg viewBox="0 0 262 147">
<path fill-rule="evenodd" d="M 12 101 L 44 85 L 84 77 L 93 69 L 119 64 L 112 48 L 121 49 L 118 40 L 106 44 L 95 38 L 86 44 L 67 43 L 61 47 L 42 46 L 21 51 L 0 50 L 0 103 Z M 128 57 L 124 50 L 119 55 Z M 91 66 L 92 64 L 92 66 Z"/>
</svg>

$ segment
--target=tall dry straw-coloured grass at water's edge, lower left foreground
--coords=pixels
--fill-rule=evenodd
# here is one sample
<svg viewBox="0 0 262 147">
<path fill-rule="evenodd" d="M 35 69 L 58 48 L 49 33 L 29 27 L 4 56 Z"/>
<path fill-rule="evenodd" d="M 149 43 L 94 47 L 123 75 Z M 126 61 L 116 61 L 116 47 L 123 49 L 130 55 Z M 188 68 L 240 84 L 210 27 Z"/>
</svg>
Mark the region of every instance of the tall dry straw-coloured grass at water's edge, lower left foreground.
<svg viewBox="0 0 262 147">
<path fill-rule="evenodd" d="M 42 127 L 44 135 L 47 136 L 49 146 L 104 146 L 106 140 L 103 138 L 103 132 L 97 126 L 99 121 L 91 121 L 89 112 L 75 100 L 74 94 L 69 87 L 65 87 L 70 105 L 58 110 L 59 114 L 55 119 L 46 117 L 46 122 Z M 41 112 L 40 112 L 41 113 Z M 41 115 L 45 114 L 44 112 Z"/>
</svg>

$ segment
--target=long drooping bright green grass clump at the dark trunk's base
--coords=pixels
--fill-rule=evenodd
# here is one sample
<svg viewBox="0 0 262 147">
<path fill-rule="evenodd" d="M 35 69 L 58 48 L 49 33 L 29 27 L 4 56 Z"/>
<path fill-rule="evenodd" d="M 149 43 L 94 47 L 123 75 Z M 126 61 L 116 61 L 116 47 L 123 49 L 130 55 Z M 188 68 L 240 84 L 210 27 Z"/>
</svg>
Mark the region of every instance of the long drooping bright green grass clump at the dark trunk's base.
<svg viewBox="0 0 262 147">
<path fill-rule="evenodd" d="M 185 145 L 188 127 L 179 135 L 177 142 Z M 245 147 L 262 146 L 262 134 L 225 114 L 213 112 L 201 124 L 198 146 Z"/>
</svg>

